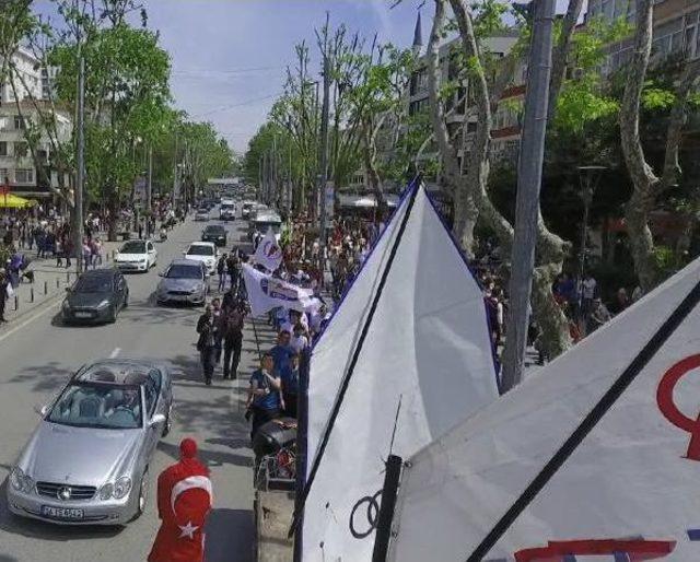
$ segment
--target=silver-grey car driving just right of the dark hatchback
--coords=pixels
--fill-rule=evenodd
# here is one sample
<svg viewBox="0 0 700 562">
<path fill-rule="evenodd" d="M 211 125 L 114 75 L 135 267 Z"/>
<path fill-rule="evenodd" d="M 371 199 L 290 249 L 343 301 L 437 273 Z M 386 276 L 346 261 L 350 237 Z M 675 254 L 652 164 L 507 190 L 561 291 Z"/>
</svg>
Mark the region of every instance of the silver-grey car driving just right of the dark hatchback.
<svg viewBox="0 0 700 562">
<path fill-rule="evenodd" d="M 209 280 L 201 261 L 175 259 L 167 269 L 159 273 L 163 280 L 158 284 L 158 304 L 185 303 L 202 305 L 207 301 Z"/>
</svg>

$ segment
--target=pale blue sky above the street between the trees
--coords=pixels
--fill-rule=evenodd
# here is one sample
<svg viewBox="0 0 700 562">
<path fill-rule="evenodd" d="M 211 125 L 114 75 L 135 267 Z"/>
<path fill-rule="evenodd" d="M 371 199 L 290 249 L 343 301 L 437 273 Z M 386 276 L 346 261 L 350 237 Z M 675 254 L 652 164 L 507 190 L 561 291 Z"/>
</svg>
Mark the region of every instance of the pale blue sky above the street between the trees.
<svg viewBox="0 0 700 562">
<path fill-rule="evenodd" d="M 210 120 L 232 148 L 245 152 L 284 83 L 302 39 L 315 47 L 314 27 L 331 25 L 408 47 L 422 0 L 143 0 L 149 26 L 171 54 L 175 104 L 192 119 Z M 36 0 L 45 11 L 47 0 Z M 559 9 L 565 0 L 558 0 Z M 422 10 L 428 38 L 432 2 Z M 312 54 L 316 51 L 312 49 Z"/>
</svg>

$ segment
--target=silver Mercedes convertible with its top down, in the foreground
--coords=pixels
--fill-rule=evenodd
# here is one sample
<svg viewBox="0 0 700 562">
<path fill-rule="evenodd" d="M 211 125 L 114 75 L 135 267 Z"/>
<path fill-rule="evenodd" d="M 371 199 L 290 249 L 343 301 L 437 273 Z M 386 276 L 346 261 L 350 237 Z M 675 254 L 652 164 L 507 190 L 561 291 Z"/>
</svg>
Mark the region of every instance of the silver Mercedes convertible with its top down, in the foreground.
<svg viewBox="0 0 700 562">
<path fill-rule="evenodd" d="M 166 365 L 105 360 L 83 366 L 40 409 L 42 421 L 10 472 L 10 510 L 71 525 L 125 525 L 138 517 L 172 411 Z"/>
</svg>

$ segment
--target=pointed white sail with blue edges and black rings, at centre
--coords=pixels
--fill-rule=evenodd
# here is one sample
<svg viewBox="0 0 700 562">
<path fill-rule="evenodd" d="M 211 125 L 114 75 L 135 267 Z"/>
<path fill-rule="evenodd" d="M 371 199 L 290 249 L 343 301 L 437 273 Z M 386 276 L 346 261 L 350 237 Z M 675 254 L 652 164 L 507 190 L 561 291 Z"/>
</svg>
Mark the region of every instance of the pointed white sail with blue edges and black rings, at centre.
<svg viewBox="0 0 700 562">
<path fill-rule="evenodd" d="M 393 450 L 408 456 L 498 397 L 481 290 L 422 188 L 410 206 L 405 198 L 313 350 L 310 470 L 410 213 L 311 484 L 304 562 L 372 559 L 395 426 Z"/>
</svg>

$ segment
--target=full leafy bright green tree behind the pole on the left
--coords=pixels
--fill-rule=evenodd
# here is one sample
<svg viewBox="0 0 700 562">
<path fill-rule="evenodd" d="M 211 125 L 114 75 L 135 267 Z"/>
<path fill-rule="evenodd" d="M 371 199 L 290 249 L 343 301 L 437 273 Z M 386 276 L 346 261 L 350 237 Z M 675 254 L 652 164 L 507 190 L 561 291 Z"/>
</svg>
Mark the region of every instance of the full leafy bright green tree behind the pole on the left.
<svg viewBox="0 0 700 562">
<path fill-rule="evenodd" d="M 170 57 L 158 35 L 124 21 L 91 30 L 80 44 L 58 46 L 50 62 L 60 68 L 57 92 L 74 103 L 79 54 L 85 59 L 86 187 L 109 210 L 114 239 L 121 203 L 142 172 L 137 147 L 160 134 L 170 117 Z"/>
</svg>

